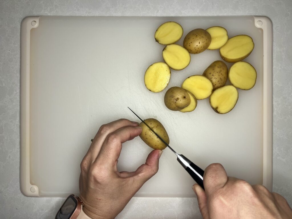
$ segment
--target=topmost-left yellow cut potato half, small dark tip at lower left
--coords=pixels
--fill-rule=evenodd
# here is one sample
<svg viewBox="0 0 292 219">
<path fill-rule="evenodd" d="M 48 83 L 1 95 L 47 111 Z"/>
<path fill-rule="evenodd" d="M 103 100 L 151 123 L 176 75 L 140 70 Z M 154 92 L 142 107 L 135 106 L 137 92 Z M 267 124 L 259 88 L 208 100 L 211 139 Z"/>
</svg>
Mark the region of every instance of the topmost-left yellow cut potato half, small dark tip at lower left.
<svg viewBox="0 0 292 219">
<path fill-rule="evenodd" d="M 160 25 L 154 34 L 155 40 L 162 45 L 173 44 L 182 36 L 183 27 L 173 21 Z"/>
</svg>

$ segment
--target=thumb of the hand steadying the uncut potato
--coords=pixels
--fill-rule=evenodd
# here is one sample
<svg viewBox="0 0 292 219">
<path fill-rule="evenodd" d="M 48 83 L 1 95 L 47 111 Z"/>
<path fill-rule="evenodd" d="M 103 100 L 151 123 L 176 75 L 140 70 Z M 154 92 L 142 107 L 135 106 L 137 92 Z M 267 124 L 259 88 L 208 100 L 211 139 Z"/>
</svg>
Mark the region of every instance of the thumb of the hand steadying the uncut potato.
<svg viewBox="0 0 292 219">
<path fill-rule="evenodd" d="M 142 164 L 135 171 L 135 175 L 133 175 L 135 187 L 142 187 L 142 185 L 149 180 L 152 176 L 154 176 L 158 171 L 159 158 L 163 151 L 161 150 L 153 150 L 148 155 L 145 164 Z"/>
</svg>

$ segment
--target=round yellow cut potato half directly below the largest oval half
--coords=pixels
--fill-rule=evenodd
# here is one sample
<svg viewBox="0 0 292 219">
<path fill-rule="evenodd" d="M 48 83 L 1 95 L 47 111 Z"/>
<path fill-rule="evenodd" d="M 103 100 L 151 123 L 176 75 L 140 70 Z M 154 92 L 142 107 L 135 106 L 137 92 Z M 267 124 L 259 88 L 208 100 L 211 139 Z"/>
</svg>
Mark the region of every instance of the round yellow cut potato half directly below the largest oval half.
<svg viewBox="0 0 292 219">
<path fill-rule="evenodd" d="M 229 70 L 229 80 L 233 86 L 249 90 L 256 84 L 256 69 L 247 62 L 236 62 Z"/>
</svg>

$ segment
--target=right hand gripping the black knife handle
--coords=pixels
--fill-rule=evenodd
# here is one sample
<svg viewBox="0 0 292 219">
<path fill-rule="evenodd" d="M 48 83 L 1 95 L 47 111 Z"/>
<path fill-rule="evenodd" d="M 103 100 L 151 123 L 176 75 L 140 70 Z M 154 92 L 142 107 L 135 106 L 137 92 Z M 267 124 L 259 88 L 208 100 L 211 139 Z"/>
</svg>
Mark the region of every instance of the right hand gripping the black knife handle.
<svg viewBox="0 0 292 219">
<path fill-rule="evenodd" d="M 205 191 L 193 185 L 204 219 L 292 218 L 287 201 L 262 185 L 227 177 L 221 164 L 211 164 L 204 173 Z"/>
</svg>

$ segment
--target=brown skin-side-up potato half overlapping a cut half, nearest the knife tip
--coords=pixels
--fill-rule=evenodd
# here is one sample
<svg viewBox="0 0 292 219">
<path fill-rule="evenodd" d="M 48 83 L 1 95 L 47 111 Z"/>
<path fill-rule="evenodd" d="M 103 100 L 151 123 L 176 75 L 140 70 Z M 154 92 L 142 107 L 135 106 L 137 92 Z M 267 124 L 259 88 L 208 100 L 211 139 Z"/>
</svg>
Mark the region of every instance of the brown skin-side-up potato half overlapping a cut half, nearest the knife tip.
<svg viewBox="0 0 292 219">
<path fill-rule="evenodd" d="M 164 95 L 164 104 L 173 111 L 181 110 L 191 103 L 190 95 L 180 87 L 171 87 Z"/>
</svg>

